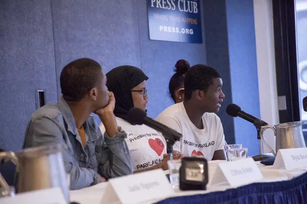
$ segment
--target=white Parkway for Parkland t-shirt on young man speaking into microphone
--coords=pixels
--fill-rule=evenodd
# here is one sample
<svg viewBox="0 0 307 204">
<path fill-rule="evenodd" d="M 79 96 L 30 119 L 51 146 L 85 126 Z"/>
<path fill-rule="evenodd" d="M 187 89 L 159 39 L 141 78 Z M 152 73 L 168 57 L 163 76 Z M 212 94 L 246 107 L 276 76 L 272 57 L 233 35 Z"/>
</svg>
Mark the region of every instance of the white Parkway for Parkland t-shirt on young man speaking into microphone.
<svg viewBox="0 0 307 204">
<path fill-rule="evenodd" d="M 204 156 L 212 160 L 216 150 L 224 149 L 224 133 L 220 118 L 214 113 L 205 113 L 202 117 L 204 129 L 198 129 L 188 118 L 183 103 L 166 108 L 157 121 L 180 132 L 183 136 L 173 145 L 173 150 L 184 153 L 185 157 L 192 154 Z"/>
</svg>

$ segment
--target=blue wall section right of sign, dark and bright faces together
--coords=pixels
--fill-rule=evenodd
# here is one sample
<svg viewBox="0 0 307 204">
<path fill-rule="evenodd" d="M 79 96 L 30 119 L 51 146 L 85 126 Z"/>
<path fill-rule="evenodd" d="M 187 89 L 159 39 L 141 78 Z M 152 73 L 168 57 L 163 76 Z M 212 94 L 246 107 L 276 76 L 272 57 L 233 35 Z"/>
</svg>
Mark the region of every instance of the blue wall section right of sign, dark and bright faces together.
<svg viewBox="0 0 307 204">
<path fill-rule="evenodd" d="M 257 131 L 252 123 L 227 115 L 228 104 L 260 117 L 258 74 L 252 0 L 205 0 L 207 63 L 220 71 L 224 103 L 217 115 L 226 141 L 242 143 L 249 155 L 259 153 Z"/>
</svg>

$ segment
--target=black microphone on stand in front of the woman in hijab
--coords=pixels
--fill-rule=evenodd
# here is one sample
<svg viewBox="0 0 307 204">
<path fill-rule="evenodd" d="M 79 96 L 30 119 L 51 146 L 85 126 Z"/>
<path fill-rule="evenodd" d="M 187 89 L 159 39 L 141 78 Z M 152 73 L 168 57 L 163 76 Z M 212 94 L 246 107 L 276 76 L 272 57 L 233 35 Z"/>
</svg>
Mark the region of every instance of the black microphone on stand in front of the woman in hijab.
<svg viewBox="0 0 307 204">
<path fill-rule="evenodd" d="M 176 130 L 147 117 L 147 113 L 140 108 L 131 108 L 130 111 L 128 111 L 127 121 L 131 125 L 144 124 L 158 132 L 161 132 L 167 142 L 167 153 L 173 153 L 173 144 L 182 137 L 182 134 Z"/>
</svg>

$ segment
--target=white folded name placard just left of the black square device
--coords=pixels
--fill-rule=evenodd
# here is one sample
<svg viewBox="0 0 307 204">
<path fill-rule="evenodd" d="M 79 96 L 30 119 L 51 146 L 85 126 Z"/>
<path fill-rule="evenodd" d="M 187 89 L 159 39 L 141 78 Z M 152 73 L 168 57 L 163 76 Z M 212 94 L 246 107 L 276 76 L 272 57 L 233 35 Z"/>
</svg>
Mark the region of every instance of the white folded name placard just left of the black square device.
<svg viewBox="0 0 307 204">
<path fill-rule="evenodd" d="M 108 180 L 101 204 L 142 203 L 166 198 L 173 189 L 162 169 L 136 173 Z"/>
</svg>

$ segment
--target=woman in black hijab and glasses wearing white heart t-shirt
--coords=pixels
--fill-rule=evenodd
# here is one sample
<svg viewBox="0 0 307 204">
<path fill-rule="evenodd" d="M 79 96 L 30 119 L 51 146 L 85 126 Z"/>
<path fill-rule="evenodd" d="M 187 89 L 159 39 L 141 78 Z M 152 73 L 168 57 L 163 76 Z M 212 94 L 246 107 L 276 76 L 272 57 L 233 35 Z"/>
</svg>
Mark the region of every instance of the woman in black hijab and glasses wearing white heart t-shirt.
<svg viewBox="0 0 307 204">
<path fill-rule="evenodd" d="M 137 67 L 119 66 L 107 74 L 108 90 L 114 93 L 114 114 L 118 126 L 127 133 L 126 142 L 133 160 L 134 173 L 162 168 L 167 170 L 167 154 L 164 139 L 146 125 L 131 125 L 126 122 L 128 111 L 133 108 L 146 110 L 148 77 Z M 103 124 L 100 130 L 105 131 Z M 180 154 L 176 158 L 181 158 Z"/>
</svg>

